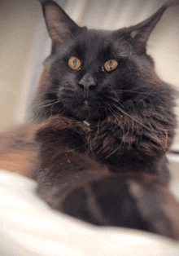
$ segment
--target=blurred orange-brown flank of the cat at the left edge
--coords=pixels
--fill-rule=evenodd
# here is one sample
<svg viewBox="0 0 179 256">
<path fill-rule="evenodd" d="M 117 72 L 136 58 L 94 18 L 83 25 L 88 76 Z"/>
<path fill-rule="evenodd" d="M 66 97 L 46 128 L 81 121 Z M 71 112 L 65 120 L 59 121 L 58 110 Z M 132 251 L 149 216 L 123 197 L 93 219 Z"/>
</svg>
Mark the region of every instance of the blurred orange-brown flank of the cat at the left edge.
<svg viewBox="0 0 179 256">
<path fill-rule="evenodd" d="M 28 123 L 7 130 L 0 136 L 0 168 L 33 179 L 37 165 L 37 143 L 33 140 L 38 125 Z"/>
</svg>

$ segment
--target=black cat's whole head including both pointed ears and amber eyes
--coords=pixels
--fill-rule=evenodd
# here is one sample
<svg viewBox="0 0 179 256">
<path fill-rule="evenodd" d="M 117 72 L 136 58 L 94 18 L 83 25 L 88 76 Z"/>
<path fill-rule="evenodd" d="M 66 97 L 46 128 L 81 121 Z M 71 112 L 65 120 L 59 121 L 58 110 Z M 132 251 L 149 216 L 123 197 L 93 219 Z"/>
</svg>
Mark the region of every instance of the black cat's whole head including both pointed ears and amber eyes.
<svg viewBox="0 0 179 256">
<path fill-rule="evenodd" d="M 98 121 L 123 113 L 135 116 L 156 105 L 171 108 L 172 90 L 155 74 L 146 42 L 174 3 L 166 2 L 133 27 L 104 31 L 81 28 L 57 3 L 41 1 L 52 51 L 37 89 L 35 116 L 59 113 Z"/>
</svg>

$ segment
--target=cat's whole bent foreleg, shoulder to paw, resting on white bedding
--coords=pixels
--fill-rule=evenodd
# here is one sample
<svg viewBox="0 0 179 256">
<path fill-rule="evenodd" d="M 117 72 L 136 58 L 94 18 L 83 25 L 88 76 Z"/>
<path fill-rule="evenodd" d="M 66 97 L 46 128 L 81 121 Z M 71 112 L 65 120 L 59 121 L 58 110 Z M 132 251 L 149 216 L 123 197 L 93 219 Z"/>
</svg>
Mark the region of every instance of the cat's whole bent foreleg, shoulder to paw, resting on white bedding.
<svg viewBox="0 0 179 256">
<path fill-rule="evenodd" d="M 96 225 L 131 227 L 179 239 L 178 203 L 157 175 L 133 169 L 111 173 L 85 155 L 82 132 L 53 121 L 37 132 L 37 194 L 44 201 Z M 77 142 L 78 149 L 74 148 Z"/>
</svg>

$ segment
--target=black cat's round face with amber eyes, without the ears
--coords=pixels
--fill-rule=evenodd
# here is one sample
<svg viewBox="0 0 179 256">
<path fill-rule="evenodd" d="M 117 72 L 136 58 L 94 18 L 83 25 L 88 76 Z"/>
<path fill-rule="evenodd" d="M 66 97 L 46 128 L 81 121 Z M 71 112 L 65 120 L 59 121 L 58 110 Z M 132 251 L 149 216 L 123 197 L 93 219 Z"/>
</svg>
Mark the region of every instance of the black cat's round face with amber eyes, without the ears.
<svg viewBox="0 0 179 256">
<path fill-rule="evenodd" d="M 111 32 L 84 29 L 50 57 L 50 88 L 66 113 L 80 120 L 98 120 L 132 99 L 126 90 L 140 86 L 146 56 Z M 136 88 L 136 90 L 138 90 Z"/>
</svg>

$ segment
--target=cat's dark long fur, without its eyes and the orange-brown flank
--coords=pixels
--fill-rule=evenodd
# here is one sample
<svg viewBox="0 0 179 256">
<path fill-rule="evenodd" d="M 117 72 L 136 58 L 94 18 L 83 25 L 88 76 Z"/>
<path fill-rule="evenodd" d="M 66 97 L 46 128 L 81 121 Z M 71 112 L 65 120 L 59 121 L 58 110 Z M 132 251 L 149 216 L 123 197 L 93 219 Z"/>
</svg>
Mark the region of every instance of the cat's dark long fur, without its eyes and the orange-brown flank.
<svg viewBox="0 0 179 256">
<path fill-rule="evenodd" d="M 175 91 L 146 54 L 152 29 L 176 3 L 111 32 L 81 28 L 55 2 L 41 1 L 52 51 L 33 103 L 33 131 L 27 137 L 28 125 L 24 138 L 20 131 L 14 137 L 24 148 L 33 144 L 37 193 L 54 209 L 179 240 L 165 157 L 176 127 Z M 68 66 L 72 56 L 81 68 Z M 107 72 L 111 59 L 118 66 Z"/>
</svg>

